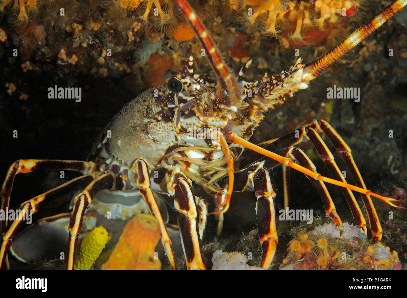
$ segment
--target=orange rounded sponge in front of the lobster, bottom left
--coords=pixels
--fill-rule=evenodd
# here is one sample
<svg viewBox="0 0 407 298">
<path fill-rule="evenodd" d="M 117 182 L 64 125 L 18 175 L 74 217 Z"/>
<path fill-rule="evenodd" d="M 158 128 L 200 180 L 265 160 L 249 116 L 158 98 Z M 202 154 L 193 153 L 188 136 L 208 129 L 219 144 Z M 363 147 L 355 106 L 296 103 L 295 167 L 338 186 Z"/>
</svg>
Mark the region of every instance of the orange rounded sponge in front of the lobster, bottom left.
<svg viewBox="0 0 407 298">
<path fill-rule="evenodd" d="M 154 216 L 134 216 L 126 224 L 102 270 L 160 270 L 161 262 L 155 253 L 159 239 L 160 226 Z"/>
</svg>

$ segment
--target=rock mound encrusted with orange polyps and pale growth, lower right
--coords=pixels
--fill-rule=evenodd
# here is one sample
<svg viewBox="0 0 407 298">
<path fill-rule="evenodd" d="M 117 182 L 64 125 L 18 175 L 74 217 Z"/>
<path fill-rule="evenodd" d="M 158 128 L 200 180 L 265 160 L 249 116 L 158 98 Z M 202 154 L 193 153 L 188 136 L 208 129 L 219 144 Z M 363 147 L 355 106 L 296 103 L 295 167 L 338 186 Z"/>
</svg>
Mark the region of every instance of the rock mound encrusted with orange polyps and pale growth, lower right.
<svg viewBox="0 0 407 298">
<path fill-rule="evenodd" d="M 309 233 L 299 232 L 289 242 L 288 255 L 280 269 L 400 269 L 396 251 L 390 252 L 390 248 L 380 242 L 369 244 L 366 235 L 356 226 L 324 224 Z"/>
</svg>

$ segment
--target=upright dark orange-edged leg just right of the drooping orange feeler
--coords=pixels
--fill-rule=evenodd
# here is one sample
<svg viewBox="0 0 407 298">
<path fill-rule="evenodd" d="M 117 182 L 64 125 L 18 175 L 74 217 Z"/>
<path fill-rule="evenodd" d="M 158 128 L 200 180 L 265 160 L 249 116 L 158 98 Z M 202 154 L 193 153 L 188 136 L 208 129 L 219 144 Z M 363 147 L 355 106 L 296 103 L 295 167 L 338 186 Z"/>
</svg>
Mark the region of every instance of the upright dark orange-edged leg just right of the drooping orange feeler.
<svg viewBox="0 0 407 298">
<path fill-rule="evenodd" d="M 261 268 L 268 269 L 273 261 L 278 243 L 276 231 L 276 211 L 274 209 L 274 198 L 276 197 L 276 186 L 269 176 L 269 172 L 261 169 L 254 178 L 254 194 L 257 198 L 256 215 L 259 240 L 263 257 Z"/>
</svg>

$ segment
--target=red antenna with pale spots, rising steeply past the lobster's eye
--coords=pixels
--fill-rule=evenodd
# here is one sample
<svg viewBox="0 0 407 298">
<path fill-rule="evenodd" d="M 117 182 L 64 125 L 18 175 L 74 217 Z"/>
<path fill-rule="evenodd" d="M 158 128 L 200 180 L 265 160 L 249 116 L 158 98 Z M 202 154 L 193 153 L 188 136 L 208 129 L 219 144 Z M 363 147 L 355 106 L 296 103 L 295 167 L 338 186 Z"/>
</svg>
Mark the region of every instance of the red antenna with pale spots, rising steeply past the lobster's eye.
<svg viewBox="0 0 407 298">
<path fill-rule="evenodd" d="M 230 105 L 236 105 L 241 96 L 236 78 L 231 74 L 228 65 L 226 65 L 219 50 L 209 37 L 208 30 L 206 30 L 204 24 L 201 22 L 201 20 L 199 20 L 197 14 L 192 7 L 190 7 L 188 2 L 186 2 L 186 0 L 174 0 L 174 2 L 177 4 L 178 8 L 184 14 L 186 20 L 195 31 L 195 34 L 205 50 L 207 55 L 206 57 L 208 58 L 209 63 L 217 76 L 220 87 L 222 88 L 221 90 L 218 90 L 217 95 L 224 102 Z"/>
</svg>

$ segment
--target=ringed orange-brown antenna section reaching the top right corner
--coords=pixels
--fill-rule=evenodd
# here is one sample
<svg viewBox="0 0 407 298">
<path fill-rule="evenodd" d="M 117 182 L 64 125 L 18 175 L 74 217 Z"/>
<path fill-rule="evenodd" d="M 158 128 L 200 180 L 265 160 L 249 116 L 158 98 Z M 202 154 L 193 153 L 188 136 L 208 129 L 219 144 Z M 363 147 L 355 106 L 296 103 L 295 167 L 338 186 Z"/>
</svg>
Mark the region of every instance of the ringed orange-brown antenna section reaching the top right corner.
<svg viewBox="0 0 407 298">
<path fill-rule="evenodd" d="M 383 25 L 390 17 L 398 13 L 400 9 L 405 7 L 407 0 L 397 0 L 389 5 L 384 11 L 379 13 L 370 22 L 364 24 L 361 28 L 349 35 L 344 41 L 338 44 L 335 48 L 322 55 L 318 59 L 311 61 L 304 67 L 304 74 L 311 74 L 309 80 L 317 77 L 326 67 L 337 61 L 344 54 L 349 52 L 354 46 L 357 46 L 369 34 Z"/>
</svg>

